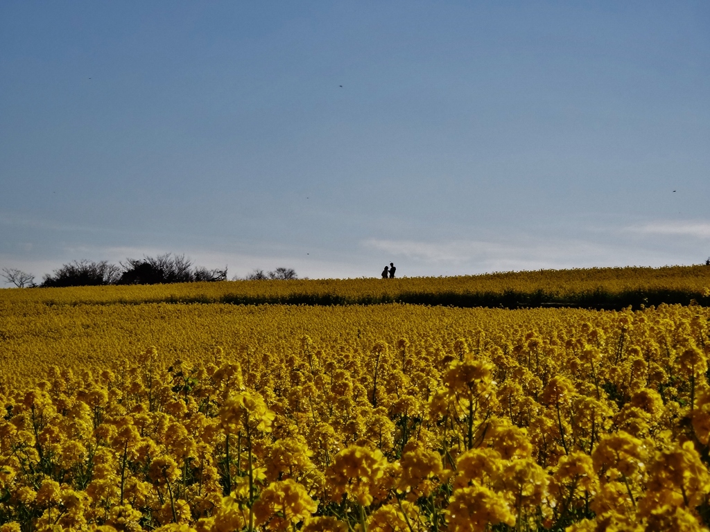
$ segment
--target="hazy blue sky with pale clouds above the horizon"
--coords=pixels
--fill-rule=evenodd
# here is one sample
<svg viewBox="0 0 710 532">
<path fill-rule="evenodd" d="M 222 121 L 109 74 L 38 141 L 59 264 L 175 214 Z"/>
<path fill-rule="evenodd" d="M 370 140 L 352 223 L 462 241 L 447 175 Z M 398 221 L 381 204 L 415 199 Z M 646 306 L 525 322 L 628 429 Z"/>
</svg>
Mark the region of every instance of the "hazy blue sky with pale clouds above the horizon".
<svg viewBox="0 0 710 532">
<path fill-rule="evenodd" d="M 709 146 L 706 1 L 0 3 L 0 267 L 38 278 L 697 264 Z"/>
</svg>

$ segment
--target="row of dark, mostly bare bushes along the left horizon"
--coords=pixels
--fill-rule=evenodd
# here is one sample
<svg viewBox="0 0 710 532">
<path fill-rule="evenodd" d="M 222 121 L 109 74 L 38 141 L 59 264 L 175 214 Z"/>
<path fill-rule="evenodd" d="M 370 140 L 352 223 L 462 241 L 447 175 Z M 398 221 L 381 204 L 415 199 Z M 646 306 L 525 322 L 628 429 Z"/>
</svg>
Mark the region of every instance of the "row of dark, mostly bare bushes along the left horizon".
<svg viewBox="0 0 710 532">
<path fill-rule="evenodd" d="M 106 260 L 98 262 L 75 260 L 43 276 L 40 284 L 35 284 L 35 277 L 15 268 L 3 268 L 0 277 L 18 288 L 27 287 L 94 287 L 107 284 L 170 284 L 177 282 L 217 282 L 226 281 L 224 270 L 193 265 L 185 255 L 165 253 L 157 257 L 126 259 L 118 265 Z M 238 280 L 234 277 L 233 280 Z M 276 268 L 270 272 L 253 270 L 246 280 L 260 279 L 297 279 L 295 270 Z"/>
</svg>

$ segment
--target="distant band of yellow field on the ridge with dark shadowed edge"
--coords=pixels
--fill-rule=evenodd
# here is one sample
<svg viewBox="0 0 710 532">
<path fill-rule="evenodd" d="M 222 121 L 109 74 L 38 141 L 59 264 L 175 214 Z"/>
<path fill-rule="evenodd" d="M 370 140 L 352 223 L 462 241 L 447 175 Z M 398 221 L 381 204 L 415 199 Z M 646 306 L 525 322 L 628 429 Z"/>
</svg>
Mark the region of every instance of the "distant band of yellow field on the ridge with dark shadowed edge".
<svg viewBox="0 0 710 532">
<path fill-rule="evenodd" d="M 202 302 L 244 304 L 413 303 L 537 306 L 562 301 L 621 309 L 633 304 L 710 304 L 710 267 L 591 268 L 401 279 L 225 281 L 150 286 L 0 290 L 7 304 Z"/>
</svg>

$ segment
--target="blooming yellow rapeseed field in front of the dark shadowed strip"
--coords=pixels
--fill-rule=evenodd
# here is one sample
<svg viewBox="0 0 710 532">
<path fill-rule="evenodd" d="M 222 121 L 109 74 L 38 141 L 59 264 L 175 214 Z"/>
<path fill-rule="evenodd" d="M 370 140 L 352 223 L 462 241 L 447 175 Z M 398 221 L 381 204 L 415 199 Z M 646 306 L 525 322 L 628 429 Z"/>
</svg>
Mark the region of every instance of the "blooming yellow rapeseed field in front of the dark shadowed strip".
<svg viewBox="0 0 710 532">
<path fill-rule="evenodd" d="M 1 532 L 709 530 L 700 306 L 12 308 Z"/>
</svg>

